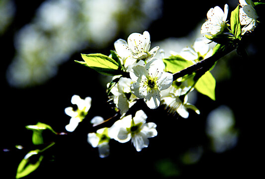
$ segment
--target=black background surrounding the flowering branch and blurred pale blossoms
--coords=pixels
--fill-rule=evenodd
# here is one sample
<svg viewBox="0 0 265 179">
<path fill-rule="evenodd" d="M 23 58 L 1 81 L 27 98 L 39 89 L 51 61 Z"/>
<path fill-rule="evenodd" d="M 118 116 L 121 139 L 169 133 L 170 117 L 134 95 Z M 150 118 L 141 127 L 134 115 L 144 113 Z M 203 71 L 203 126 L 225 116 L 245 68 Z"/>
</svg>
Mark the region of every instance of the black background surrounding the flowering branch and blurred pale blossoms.
<svg viewBox="0 0 265 179">
<path fill-rule="evenodd" d="M 98 74 L 74 60 L 82 60 L 81 53 L 108 54 L 113 50 L 113 43 L 106 48 L 87 48 L 70 57 L 59 66 L 57 75 L 46 83 L 30 88 L 14 88 L 6 81 L 6 69 L 14 53 L 13 36 L 22 26 L 29 23 L 42 0 L 15 0 L 16 12 L 13 21 L 4 34 L 0 36 L 1 46 L 1 130 L 0 148 L 2 179 L 14 179 L 20 161 L 28 151 L 36 149 L 31 142 L 32 132 L 24 126 L 34 125 L 38 121 L 49 124 L 57 132 L 66 132 L 64 127 L 70 117 L 64 109 L 71 104 L 73 94 L 81 98 L 92 97 L 91 108 L 86 119 L 80 123 L 75 132 L 68 135 L 55 136 L 44 132 L 44 142 L 55 140 L 56 144 L 46 151 L 40 167 L 25 179 L 83 179 L 92 176 L 115 178 L 176 178 L 189 177 L 242 177 L 261 172 L 264 154 L 261 140 L 263 117 L 263 81 L 264 81 L 264 10 L 257 7 L 260 16 L 259 26 L 253 33 L 244 37 L 246 46 L 255 49 L 248 57 L 233 55 L 224 59 L 229 66 L 230 78 L 217 82 L 216 101 L 202 94 L 197 95 L 196 107 L 201 114 L 189 111 L 190 116 L 183 119 L 168 115 L 163 107 L 155 110 L 143 110 L 148 121 L 155 122 L 158 136 L 150 139 L 148 148 L 136 152 L 130 142 L 121 144 L 110 141 L 110 156 L 98 157 L 97 149 L 87 142 L 87 134 L 91 130 L 90 119 L 100 115 L 107 119 L 115 114 L 108 104 L 105 88 L 100 85 Z M 197 23 L 206 18 L 209 8 L 228 3 L 230 12 L 236 7 L 233 0 L 224 1 L 178 1 L 164 0 L 160 18 L 146 29 L 152 41 L 168 37 L 186 36 Z M 262 6 L 262 5 L 261 5 Z M 262 10 L 260 10 L 262 9 Z M 228 15 L 228 17 L 230 14 Z M 177 18 L 176 18 L 177 17 Z M 126 39 L 129 34 L 120 33 L 116 39 Z M 189 44 L 187 44 L 189 45 Z M 235 53 L 235 52 L 233 52 Z M 221 59 L 222 60 L 222 59 Z M 218 64 L 217 64 L 218 66 Z M 69 81 L 75 82 L 69 83 Z M 70 84 L 70 85 L 69 85 Z M 220 105 L 229 106 L 235 115 L 235 127 L 239 130 L 236 147 L 223 153 L 215 153 L 210 148 L 210 140 L 205 133 L 207 114 Z M 263 128 L 263 127 L 262 127 Z M 15 145 L 22 145 L 18 150 Z M 202 146 L 200 160 L 191 165 L 181 162 L 181 156 L 191 147 Z M 2 152 L 8 149 L 8 152 Z M 47 157 L 46 157 L 47 156 Z M 164 166 L 167 170 L 161 172 Z M 170 173 L 172 172 L 172 174 Z M 165 174 L 166 173 L 166 174 Z M 168 175 L 167 175 L 168 174 Z"/>
</svg>

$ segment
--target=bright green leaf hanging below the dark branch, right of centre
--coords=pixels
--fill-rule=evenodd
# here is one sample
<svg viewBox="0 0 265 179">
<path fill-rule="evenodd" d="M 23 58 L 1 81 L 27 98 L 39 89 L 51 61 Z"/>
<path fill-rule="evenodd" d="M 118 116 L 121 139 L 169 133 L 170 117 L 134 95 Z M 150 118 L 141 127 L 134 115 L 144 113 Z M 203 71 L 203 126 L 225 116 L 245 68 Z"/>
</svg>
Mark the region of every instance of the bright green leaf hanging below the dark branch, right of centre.
<svg viewBox="0 0 265 179">
<path fill-rule="evenodd" d="M 212 74 L 207 71 L 195 84 L 195 89 L 198 92 L 209 96 L 212 100 L 215 100 L 215 79 Z"/>
</svg>

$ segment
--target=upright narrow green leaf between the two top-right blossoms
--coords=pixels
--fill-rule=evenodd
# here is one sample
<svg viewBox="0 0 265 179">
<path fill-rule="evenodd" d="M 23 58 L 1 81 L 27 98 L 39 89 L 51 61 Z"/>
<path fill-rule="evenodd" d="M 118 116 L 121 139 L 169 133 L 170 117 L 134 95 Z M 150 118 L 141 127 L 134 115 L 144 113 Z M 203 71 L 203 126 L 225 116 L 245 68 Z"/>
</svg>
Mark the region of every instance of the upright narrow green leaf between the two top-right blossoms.
<svg viewBox="0 0 265 179">
<path fill-rule="evenodd" d="M 241 24 L 239 20 L 239 5 L 231 12 L 231 31 L 236 39 L 241 39 Z"/>
</svg>

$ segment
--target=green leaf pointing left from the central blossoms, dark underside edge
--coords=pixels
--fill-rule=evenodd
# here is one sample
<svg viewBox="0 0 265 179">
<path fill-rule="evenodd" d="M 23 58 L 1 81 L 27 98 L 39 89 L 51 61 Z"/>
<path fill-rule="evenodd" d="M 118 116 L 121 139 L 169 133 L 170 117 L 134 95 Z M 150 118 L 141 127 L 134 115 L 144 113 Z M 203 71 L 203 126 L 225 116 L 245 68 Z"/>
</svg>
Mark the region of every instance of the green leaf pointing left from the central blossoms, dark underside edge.
<svg viewBox="0 0 265 179">
<path fill-rule="evenodd" d="M 112 58 L 103 54 L 81 54 L 88 67 L 103 75 L 120 75 L 121 66 Z"/>
</svg>

